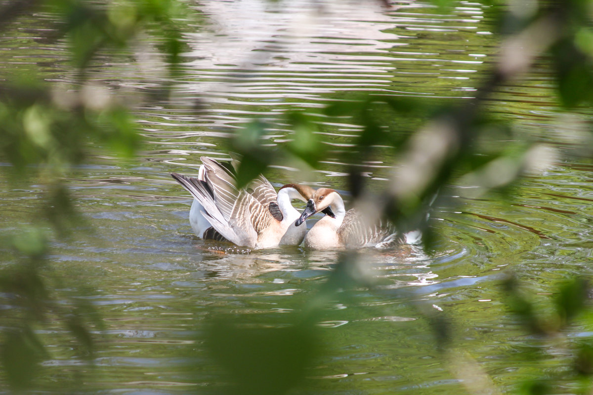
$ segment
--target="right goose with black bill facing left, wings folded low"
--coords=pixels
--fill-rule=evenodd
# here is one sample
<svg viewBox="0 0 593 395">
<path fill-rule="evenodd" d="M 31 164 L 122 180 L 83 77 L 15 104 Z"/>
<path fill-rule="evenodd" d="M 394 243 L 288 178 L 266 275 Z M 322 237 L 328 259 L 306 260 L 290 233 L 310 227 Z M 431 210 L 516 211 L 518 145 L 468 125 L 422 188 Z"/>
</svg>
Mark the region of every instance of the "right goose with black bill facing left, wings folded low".
<svg viewBox="0 0 593 395">
<path fill-rule="evenodd" d="M 335 216 L 324 216 L 315 223 L 305 236 L 307 248 L 387 248 L 406 242 L 406 236 L 398 233 L 393 226 L 368 223 L 354 208 L 346 211 L 342 197 L 330 188 L 319 188 L 314 192 L 295 224 L 299 226 L 308 217 L 328 207 L 331 207 Z"/>
</svg>

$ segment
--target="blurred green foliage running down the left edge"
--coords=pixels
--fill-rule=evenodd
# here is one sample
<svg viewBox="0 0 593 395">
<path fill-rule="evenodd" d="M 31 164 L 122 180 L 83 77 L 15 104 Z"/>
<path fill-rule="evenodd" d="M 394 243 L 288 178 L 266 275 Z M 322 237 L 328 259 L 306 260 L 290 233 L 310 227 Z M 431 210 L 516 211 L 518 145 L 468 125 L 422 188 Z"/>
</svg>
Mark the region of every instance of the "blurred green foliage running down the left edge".
<svg viewBox="0 0 593 395">
<path fill-rule="evenodd" d="M 42 37 L 35 39 L 68 44 L 60 48 L 78 68 L 66 72 L 69 78 L 77 79 L 67 91 L 56 89 L 59 84 L 48 83 L 46 76 L 29 72 L 28 68 L 21 72 L 20 65 L 8 70 L 7 81 L 0 82 L 0 161 L 8 163 L 4 169 L 12 185 L 20 187 L 35 178 L 36 185 L 31 188 L 42 196 L 39 210 L 31 213 L 35 225 L 0 240 L 0 247 L 11 247 L 17 257 L 17 262 L 0 270 L 0 294 L 3 303 L 9 303 L 0 306 L 1 379 L 15 391 L 31 387 L 43 369 L 40 362 L 49 358 L 36 334 L 49 320 L 52 325 L 60 322 L 68 328 L 69 343 L 75 346 L 65 349 L 76 357 L 91 357 L 96 348 L 91 328 L 103 328 L 103 320 L 93 305 L 78 298 L 84 285 L 66 285 L 68 281 L 52 272 L 48 259 L 53 236 L 69 235 L 84 224 L 63 176 L 97 146 L 130 157 L 142 140 L 126 98 L 106 94 L 103 86 L 93 85 L 87 66 L 97 55 L 131 54 L 139 38 L 144 40 L 148 34 L 157 36 L 154 41 L 169 62 L 168 72 L 174 76 L 180 53 L 186 49 L 182 29 L 187 20 L 182 22 L 180 18 L 186 10 L 186 4 L 177 0 L 47 0 L 0 5 L 0 30 L 7 30 L 14 21 L 18 23 L 23 15 L 51 14 L 53 25 L 46 28 L 40 24 L 37 31 Z M 20 39 L 17 41 L 20 43 Z M 22 77 L 18 80 L 15 75 Z M 164 88 L 172 84 L 163 80 Z M 158 100 L 168 98 L 167 89 L 159 87 L 154 91 L 160 95 Z M 74 294 L 71 300 L 63 297 L 68 292 L 65 290 Z M 51 380 L 67 391 L 67 384 L 60 383 L 60 378 Z"/>
</svg>

